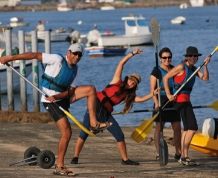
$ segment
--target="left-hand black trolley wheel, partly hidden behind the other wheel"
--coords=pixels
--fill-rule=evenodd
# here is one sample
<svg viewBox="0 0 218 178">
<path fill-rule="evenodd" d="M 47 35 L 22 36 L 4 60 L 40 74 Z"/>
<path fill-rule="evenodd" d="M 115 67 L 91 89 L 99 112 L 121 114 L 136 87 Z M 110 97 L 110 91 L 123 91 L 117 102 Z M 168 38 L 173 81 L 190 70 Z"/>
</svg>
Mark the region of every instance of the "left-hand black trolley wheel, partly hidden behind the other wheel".
<svg viewBox="0 0 218 178">
<path fill-rule="evenodd" d="M 31 146 L 27 148 L 26 151 L 24 152 L 24 159 L 27 159 L 25 160 L 25 162 L 26 163 L 33 162 L 33 163 L 29 163 L 30 166 L 37 165 L 37 156 L 39 153 L 40 153 L 40 149 L 35 146 Z M 28 159 L 28 158 L 31 158 L 31 159 Z"/>
</svg>

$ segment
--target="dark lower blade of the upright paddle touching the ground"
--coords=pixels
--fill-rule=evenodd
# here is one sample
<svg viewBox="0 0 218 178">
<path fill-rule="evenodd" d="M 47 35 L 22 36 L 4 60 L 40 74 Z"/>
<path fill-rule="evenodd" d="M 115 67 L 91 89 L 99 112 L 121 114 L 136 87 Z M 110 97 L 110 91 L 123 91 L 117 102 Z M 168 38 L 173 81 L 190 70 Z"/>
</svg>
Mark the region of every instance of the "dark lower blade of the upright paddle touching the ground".
<svg viewBox="0 0 218 178">
<path fill-rule="evenodd" d="M 168 146 L 167 146 L 167 142 L 161 138 L 160 139 L 160 166 L 165 166 L 168 164 Z"/>
</svg>

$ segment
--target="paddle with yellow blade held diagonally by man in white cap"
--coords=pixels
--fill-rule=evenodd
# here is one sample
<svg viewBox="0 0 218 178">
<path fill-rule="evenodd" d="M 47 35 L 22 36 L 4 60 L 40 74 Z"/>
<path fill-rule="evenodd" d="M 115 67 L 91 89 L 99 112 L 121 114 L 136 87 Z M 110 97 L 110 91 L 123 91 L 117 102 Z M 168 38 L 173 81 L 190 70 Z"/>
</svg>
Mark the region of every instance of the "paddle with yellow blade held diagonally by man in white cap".
<svg viewBox="0 0 218 178">
<path fill-rule="evenodd" d="M 22 74 L 20 74 L 16 69 L 14 69 L 9 63 L 6 63 L 9 68 L 11 68 L 16 74 L 18 74 L 22 79 L 24 79 L 27 83 L 29 83 L 33 88 L 35 88 L 39 93 L 41 93 L 44 96 L 48 96 L 45 92 L 40 90 L 37 86 L 35 86 L 33 83 L 31 83 L 26 77 L 24 77 Z M 56 104 L 56 103 L 54 103 Z M 57 105 L 57 104 L 56 104 Z M 80 129 L 82 129 L 85 133 L 87 133 L 90 136 L 96 136 L 93 134 L 90 130 L 88 130 L 85 126 L 83 126 L 72 114 L 70 114 L 68 111 L 66 111 L 61 106 L 57 105 L 58 108 L 66 114 L 68 118 L 70 118 Z"/>
</svg>

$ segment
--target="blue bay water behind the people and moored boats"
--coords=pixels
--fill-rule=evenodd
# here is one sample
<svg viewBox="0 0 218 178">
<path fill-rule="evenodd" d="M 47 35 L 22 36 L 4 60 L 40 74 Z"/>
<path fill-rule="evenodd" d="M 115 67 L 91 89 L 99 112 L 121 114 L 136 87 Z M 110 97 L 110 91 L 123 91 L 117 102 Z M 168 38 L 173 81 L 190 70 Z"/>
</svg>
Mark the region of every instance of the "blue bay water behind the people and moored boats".
<svg viewBox="0 0 218 178">
<path fill-rule="evenodd" d="M 156 17 L 160 23 L 160 45 L 169 47 L 173 52 L 173 64 L 177 65 L 184 59 L 185 50 L 188 46 L 196 46 L 202 57 L 196 66 L 203 63 L 204 57 L 209 55 L 216 45 L 218 45 L 218 6 L 208 6 L 201 8 L 179 9 L 179 7 L 159 7 L 159 8 L 128 8 L 115 9 L 112 11 L 101 10 L 77 10 L 69 12 L 0 12 L 0 21 L 8 23 L 11 17 L 22 17 L 25 22 L 30 23 L 27 27 L 16 28 L 16 30 L 33 30 L 38 20 L 46 22 L 46 28 L 57 29 L 63 27 L 73 28 L 86 34 L 93 25 L 96 24 L 101 31 L 112 31 L 115 34 L 124 33 L 124 23 L 121 17 L 133 15 L 143 15 L 147 18 L 148 25 L 152 17 Z M 183 25 L 173 25 L 170 20 L 177 16 L 186 17 Z M 65 54 L 69 43 L 52 43 L 52 53 Z M 135 47 L 130 47 L 129 51 Z M 125 65 L 123 77 L 132 72 L 137 72 L 142 77 L 142 82 L 137 90 L 138 95 L 149 93 L 149 76 L 155 66 L 155 49 L 153 46 L 140 46 L 143 50 L 141 55 L 135 56 Z M 43 44 L 39 44 L 39 50 L 44 51 Z M 116 65 L 122 56 L 89 58 L 86 54 L 79 63 L 78 84 L 91 84 L 97 90 L 102 90 L 112 79 Z M 209 81 L 197 80 L 191 95 L 191 101 L 196 105 L 209 105 L 218 99 L 218 53 L 214 54 L 208 66 L 210 72 Z M 31 79 L 31 77 L 30 77 Z M 32 88 L 28 86 L 28 106 L 32 109 Z M 19 96 L 16 96 L 19 98 Z M 132 110 L 152 108 L 152 100 L 134 104 Z M 2 96 L 3 110 L 7 110 L 7 96 Z M 19 99 L 15 99 L 15 109 L 19 111 Z M 121 111 L 123 105 L 115 107 L 115 111 Z M 44 111 L 43 107 L 41 110 Z M 86 100 L 83 99 L 71 105 L 72 114 L 79 120 L 83 119 L 86 111 Z M 217 117 L 214 109 L 196 109 L 195 114 L 201 128 L 205 118 Z M 151 118 L 151 113 L 135 113 L 114 116 L 121 126 L 137 126 L 144 119 Z"/>
</svg>

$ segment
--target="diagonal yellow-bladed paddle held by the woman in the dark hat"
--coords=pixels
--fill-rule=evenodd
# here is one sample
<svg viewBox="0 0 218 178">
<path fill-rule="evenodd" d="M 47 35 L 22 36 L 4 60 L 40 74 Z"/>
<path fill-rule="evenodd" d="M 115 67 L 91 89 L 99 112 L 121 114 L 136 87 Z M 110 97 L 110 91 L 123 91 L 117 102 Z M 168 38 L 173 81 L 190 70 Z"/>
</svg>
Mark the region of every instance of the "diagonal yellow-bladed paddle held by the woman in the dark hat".
<svg viewBox="0 0 218 178">
<path fill-rule="evenodd" d="M 210 57 L 213 56 L 213 54 L 218 51 L 218 46 L 215 47 L 215 49 L 210 53 Z M 203 62 L 202 65 L 200 65 L 195 71 L 194 73 L 179 87 L 179 89 L 173 94 L 173 96 L 176 96 L 181 90 L 182 88 L 192 79 L 192 77 L 204 66 L 205 62 Z M 166 105 L 169 103 L 170 101 L 168 100 L 168 102 L 166 102 L 166 104 L 164 106 L 162 106 L 161 109 L 164 109 L 166 107 Z M 217 102 L 214 103 L 212 106 L 217 107 Z M 159 111 L 157 112 L 157 114 L 155 114 L 154 116 L 152 116 L 149 119 L 145 119 L 132 133 L 131 137 L 133 140 L 135 140 L 137 143 L 142 142 L 143 140 L 146 139 L 146 136 L 144 136 L 146 134 L 149 133 L 148 131 L 148 127 L 150 126 L 150 124 L 153 123 L 153 121 L 157 118 L 157 116 L 159 115 Z"/>
</svg>

